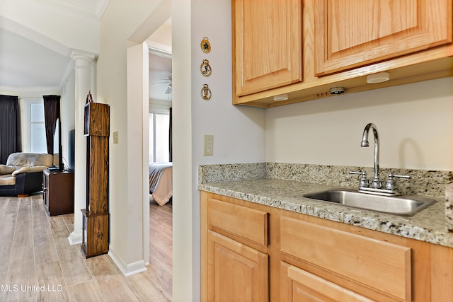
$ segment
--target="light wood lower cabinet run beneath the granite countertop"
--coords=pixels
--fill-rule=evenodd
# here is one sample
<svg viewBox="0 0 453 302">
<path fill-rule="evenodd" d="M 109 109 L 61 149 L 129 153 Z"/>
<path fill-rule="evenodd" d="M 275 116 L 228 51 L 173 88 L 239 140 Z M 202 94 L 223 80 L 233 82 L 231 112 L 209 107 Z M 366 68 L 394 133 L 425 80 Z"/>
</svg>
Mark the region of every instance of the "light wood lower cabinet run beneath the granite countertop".
<svg viewBox="0 0 453 302">
<path fill-rule="evenodd" d="M 453 301 L 453 248 L 200 192 L 202 301 Z"/>
</svg>

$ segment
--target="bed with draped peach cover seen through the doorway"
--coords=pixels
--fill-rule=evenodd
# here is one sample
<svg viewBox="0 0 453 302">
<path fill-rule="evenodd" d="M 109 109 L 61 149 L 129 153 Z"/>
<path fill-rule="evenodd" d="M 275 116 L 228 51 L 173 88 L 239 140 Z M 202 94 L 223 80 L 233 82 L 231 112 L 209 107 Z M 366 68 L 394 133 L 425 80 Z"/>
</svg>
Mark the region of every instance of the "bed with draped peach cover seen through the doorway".
<svg viewBox="0 0 453 302">
<path fill-rule="evenodd" d="M 173 196 L 173 163 L 149 163 L 149 194 L 160 206 Z"/>
</svg>

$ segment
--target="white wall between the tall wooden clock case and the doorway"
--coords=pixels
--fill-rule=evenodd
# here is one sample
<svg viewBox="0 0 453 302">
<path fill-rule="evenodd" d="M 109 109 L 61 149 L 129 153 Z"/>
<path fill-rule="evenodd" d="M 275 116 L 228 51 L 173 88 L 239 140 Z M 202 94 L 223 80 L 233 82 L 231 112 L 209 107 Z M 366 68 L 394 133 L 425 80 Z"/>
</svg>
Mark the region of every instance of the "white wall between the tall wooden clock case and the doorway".
<svg viewBox="0 0 453 302">
<path fill-rule="evenodd" d="M 110 139 L 110 253 L 126 274 L 147 261 L 142 237 L 144 187 L 137 190 L 143 183 L 142 159 L 134 157 L 142 151 L 142 116 L 138 113 L 130 118 L 142 100 L 128 99 L 128 73 L 134 71 L 127 69 L 127 48 L 130 36 L 157 4 L 159 1 L 112 0 L 101 18 L 96 101 L 110 105 L 110 134 L 118 132 L 118 144 Z"/>
</svg>

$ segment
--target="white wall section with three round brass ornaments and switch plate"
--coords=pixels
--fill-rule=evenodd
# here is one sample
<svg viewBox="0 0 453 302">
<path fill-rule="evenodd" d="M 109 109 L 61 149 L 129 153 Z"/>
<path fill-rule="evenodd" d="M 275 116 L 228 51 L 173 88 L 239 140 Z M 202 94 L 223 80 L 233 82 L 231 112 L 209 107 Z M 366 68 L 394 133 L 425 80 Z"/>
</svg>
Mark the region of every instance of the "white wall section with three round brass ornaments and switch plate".
<svg viewBox="0 0 453 302">
<path fill-rule="evenodd" d="M 175 7 L 174 0 L 173 7 Z M 193 301 L 199 301 L 200 194 L 197 190 L 197 166 L 208 163 L 265 161 L 265 110 L 231 105 L 231 1 L 196 0 L 191 2 L 190 10 L 191 92 L 190 99 L 181 101 L 190 102 L 192 107 L 192 206 L 190 209 L 193 249 L 192 280 Z M 173 27 L 177 26 L 178 18 L 173 16 L 172 20 Z M 173 30 L 173 33 L 175 30 L 177 31 L 177 28 Z M 200 48 L 203 37 L 209 38 L 212 47 L 208 54 L 202 52 Z M 173 57 L 177 51 L 175 43 L 173 37 Z M 200 73 L 203 59 L 209 59 L 212 66 L 212 75 L 207 78 Z M 174 64 L 173 61 L 173 66 Z M 174 77 L 175 72 L 173 72 L 173 79 Z M 212 98 L 209 101 L 202 100 L 201 97 L 200 91 L 204 83 L 207 83 L 212 91 Z M 173 87 L 176 89 L 175 82 L 173 82 Z M 173 97 L 175 112 L 177 106 L 175 95 Z M 214 135 L 213 156 L 203 156 L 204 134 Z M 178 199 L 175 197 L 173 210 L 177 207 Z M 174 218 L 176 219 L 176 217 Z M 175 294 L 173 291 L 173 295 Z M 180 298 L 182 299 L 183 296 Z"/>
</svg>

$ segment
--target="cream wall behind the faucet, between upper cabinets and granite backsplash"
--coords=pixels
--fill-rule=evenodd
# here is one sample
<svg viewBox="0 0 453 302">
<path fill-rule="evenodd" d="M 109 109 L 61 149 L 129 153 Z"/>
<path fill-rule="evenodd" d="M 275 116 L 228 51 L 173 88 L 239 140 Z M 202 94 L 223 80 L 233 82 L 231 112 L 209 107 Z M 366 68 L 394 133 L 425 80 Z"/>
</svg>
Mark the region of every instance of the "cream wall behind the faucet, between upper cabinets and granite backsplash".
<svg viewBox="0 0 453 302">
<path fill-rule="evenodd" d="M 266 161 L 453 170 L 453 78 L 412 83 L 273 108 L 266 112 Z"/>
</svg>

